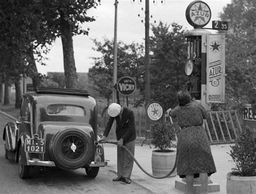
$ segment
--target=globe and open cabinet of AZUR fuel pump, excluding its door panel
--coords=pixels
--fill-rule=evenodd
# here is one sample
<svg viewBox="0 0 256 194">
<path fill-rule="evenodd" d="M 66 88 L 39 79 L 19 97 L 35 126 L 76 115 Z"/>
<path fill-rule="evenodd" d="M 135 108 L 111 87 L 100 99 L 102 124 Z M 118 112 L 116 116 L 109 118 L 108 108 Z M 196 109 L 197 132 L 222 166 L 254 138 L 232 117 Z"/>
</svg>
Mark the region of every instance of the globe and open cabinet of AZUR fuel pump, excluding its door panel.
<svg viewBox="0 0 256 194">
<path fill-rule="evenodd" d="M 206 110 L 211 110 L 211 103 L 206 103 L 206 37 L 211 32 L 202 29 L 211 19 L 211 9 L 203 1 L 193 1 L 187 6 L 186 19 L 194 27 L 186 34 L 188 91 Z"/>
</svg>

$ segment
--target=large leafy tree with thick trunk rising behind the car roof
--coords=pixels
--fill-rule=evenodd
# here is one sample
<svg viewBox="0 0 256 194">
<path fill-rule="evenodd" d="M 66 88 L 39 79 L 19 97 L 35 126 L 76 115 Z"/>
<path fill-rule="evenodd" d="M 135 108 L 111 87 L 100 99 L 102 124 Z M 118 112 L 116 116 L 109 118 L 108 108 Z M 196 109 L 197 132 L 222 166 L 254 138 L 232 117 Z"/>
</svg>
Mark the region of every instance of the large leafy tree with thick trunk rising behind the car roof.
<svg viewBox="0 0 256 194">
<path fill-rule="evenodd" d="M 41 1 L 45 15 L 50 15 L 55 24 L 52 33 L 62 39 L 63 61 L 66 88 L 77 88 L 76 64 L 73 54 L 73 35 L 87 35 L 89 29 L 84 30 L 84 22 L 94 21 L 95 18 L 87 16 L 87 10 L 96 8 L 99 1 Z"/>
</svg>

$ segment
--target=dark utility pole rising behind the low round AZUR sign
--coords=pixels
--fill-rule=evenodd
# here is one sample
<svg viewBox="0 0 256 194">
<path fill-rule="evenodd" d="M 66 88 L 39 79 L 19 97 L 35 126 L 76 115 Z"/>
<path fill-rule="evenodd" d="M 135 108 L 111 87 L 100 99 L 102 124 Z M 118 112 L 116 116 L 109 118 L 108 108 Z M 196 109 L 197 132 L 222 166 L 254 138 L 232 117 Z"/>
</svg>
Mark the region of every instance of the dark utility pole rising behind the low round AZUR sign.
<svg viewBox="0 0 256 194">
<path fill-rule="evenodd" d="M 150 56 L 149 56 L 149 0 L 145 0 L 145 110 L 150 103 Z M 149 121 L 146 119 L 146 130 L 149 130 Z"/>
</svg>

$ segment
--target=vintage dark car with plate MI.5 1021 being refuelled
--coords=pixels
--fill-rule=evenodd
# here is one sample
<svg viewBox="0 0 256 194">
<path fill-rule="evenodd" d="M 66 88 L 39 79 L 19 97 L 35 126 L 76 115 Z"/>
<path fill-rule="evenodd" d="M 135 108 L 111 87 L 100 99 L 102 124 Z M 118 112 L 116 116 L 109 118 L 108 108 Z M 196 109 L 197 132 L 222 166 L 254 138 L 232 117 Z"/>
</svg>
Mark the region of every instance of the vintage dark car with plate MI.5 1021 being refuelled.
<svg viewBox="0 0 256 194">
<path fill-rule="evenodd" d="M 6 159 L 15 159 L 19 177 L 31 167 L 85 168 L 96 177 L 106 166 L 97 143 L 97 104 L 89 91 L 38 87 L 22 97 L 16 123 L 4 127 Z"/>
</svg>

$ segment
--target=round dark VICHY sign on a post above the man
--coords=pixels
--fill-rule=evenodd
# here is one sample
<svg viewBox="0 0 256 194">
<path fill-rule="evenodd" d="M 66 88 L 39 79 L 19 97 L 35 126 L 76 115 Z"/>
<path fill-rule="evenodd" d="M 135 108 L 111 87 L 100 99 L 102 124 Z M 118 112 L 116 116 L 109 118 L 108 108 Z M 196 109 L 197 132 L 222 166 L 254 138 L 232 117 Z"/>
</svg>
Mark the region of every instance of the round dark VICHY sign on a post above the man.
<svg viewBox="0 0 256 194">
<path fill-rule="evenodd" d="M 133 94 L 136 89 L 136 83 L 133 78 L 124 76 L 117 82 L 117 90 L 124 96 Z"/>
</svg>

